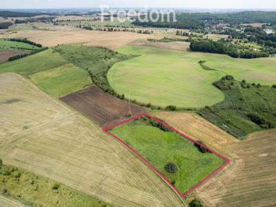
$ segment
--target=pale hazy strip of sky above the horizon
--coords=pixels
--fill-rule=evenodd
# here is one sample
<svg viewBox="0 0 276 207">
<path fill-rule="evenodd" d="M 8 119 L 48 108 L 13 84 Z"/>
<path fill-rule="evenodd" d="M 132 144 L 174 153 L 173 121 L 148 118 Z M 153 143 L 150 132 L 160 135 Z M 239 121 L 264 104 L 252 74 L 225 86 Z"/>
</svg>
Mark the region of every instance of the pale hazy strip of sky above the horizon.
<svg viewBox="0 0 276 207">
<path fill-rule="evenodd" d="M 275 0 L 0 0 L 5 8 L 97 8 L 114 7 L 148 8 L 206 8 L 206 9 L 276 9 Z"/>
</svg>

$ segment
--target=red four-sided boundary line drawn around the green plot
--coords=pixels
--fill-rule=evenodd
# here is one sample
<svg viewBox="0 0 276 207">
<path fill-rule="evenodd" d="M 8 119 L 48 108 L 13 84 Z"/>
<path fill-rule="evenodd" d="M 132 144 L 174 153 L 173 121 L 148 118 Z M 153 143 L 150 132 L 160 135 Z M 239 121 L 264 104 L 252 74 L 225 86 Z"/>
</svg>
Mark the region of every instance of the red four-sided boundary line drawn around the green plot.
<svg viewBox="0 0 276 207">
<path fill-rule="evenodd" d="M 126 144 L 125 141 L 123 141 L 122 139 L 120 139 L 119 137 L 117 137 L 116 135 L 113 135 L 111 132 L 108 132 L 108 130 L 110 130 L 111 128 L 115 128 L 116 126 L 122 125 L 122 124 L 126 124 L 128 121 L 133 121 L 135 119 L 139 119 L 140 117 L 150 117 L 151 119 L 154 119 L 155 121 L 157 121 L 160 124 L 163 124 L 164 126 L 166 126 L 167 128 L 170 128 L 170 130 L 177 132 L 177 134 L 181 135 L 182 137 L 189 139 L 190 141 L 193 141 L 196 144 L 199 144 L 200 146 L 208 149 L 210 152 L 213 152 L 215 155 L 221 157 L 222 159 L 225 160 L 225 162 L 223 164 L 221 164 L 221 166 L 219 166 L 217 169 L 215 169 L 213 172 L 210 172 L 206 177 L 204 177 L 204 179 L 201 179 L 201 181 L 199 181 L 197 184 L 195 184 L 195 186 L 193 186 L 192 188 L 190 188 L 190 190 L 188 190 L 186 193 L 182 194 L 180 193 L 180 191 L 170 183 L 170 181 L 168 181 L 168 179 L 159 171 L 157 170 L 157 168 L 155 168 L 155 166 L 153 166 L 152 164 L 150 164 L 149 161 L 147 161 L 142 155 L 140 155 L 136 150 L 134 150 L 131 146 L 129 146 L 128 144 Z M 126 119 L 124 121 L 121 121 L 117 124 L 114 124 L 112 126 L 108 126 L 106 128 L 103 128 L 103 132 L 106 132 L 106 134 L 111 135 L 112 137 L 114 137 L 115 139 L 117 139 L 118 141 L 121 142 L 121 144 L 124 144 L 128 149 L 130 149 L 135 155 L 137 155 L 137 157 L 139 157 L 141 160 L 143 160 L 148 166 L 150 166 L 153 170 L 155 170 L 155 172 L 162 178 L 164 179 L 171 188 L 173 188 L 181 197 L 185 197 L 186 195 L 190 194 L 193 190 L 195 190 L 195 188 L 197 188 L 198 186 L 200 186 L 204 181 L 206 181 L 206 179 L 208 179 L 209 177 L 211 177 L 212 175 L 215 174 L 215 172 L 217 172 L 218 170 L 220 170 L 221 168 L 223 168 L 226 164 L 228 164 L 228 162 L 230 162 L 230 159 L 224 157 L 223 155 L 220 155 L 218 152 L 216 152 L 215 150 L 212 150 L 210 148 L 208 148 L 207 146 L 204 146 L 203 144 L 200 144 L 199 142 L 195 141 L 194 139 L 188 137 L 187 135 L 185 135 L 184 133 L 180 132 L 179 130 L 176 130 L 175 128 L 172 128 L 171 126 L 168 126 L 168 124 L 165 124 L 164 122 L 160 121 L 159 119 L 152 117 L 151 115 L 149 115 L 148 113 L 144 113 L 141 115 L 138 115 L 136 117 L 132 117 L 130 119 Z"/>
</svg>

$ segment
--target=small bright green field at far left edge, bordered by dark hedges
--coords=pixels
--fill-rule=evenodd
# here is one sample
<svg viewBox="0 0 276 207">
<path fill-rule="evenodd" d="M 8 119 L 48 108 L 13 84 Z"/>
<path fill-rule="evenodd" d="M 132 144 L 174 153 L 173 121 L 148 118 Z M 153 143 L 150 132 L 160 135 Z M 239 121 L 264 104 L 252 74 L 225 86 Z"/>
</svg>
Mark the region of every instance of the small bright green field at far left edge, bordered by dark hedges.
<svg viewBox="0 0 276 207">
<path fill-rule="evenodd" d="M 39 50 L 41 48 L 37 46 L 32 46 L 28 43 L 17 42 L 17 41 L 9 41 L 6 39 L 0 39 L 0 49 L 2 50 Z"/>
</svg>

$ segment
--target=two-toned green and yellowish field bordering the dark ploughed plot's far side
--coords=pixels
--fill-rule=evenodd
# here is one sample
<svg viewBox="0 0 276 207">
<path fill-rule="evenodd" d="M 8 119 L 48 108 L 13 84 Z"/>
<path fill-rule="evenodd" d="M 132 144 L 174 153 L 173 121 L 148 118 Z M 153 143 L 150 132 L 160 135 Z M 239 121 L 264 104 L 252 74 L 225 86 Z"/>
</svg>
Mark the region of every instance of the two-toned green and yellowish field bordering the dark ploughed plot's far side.
<svg viewBox="0 0 276 207">
<path fill-rule="evenodd" d="M 62 97 L 91 84 L 86 70 L 74 66 L 49 49 L 0 65 L 1 72 L 17 72 L 30 78 L 42 90 Z"/>
</svg>

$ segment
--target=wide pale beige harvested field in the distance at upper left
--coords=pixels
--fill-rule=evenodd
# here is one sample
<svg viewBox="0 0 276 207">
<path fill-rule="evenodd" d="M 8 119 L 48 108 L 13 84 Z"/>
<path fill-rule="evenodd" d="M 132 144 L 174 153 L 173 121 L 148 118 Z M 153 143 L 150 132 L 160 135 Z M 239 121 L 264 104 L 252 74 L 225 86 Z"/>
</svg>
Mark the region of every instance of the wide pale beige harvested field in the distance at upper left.
<svg viewBox="0 0 276 207">
<path fill-rule="evenodd" d="M 28 38 L 43 46 L 57 46 L 67 43 L 85 43 L 87 46 L 101 46 L 116 49 L 136 39 L 148 39 L 153 34 L 137 34 L 133 32 L 101 32 L 81 30 L 68 26 L 50 26 L 50 30 L 24 30 L 12 34 L 2 34 L 1 38 Z"/>
</svg>

